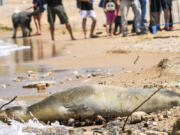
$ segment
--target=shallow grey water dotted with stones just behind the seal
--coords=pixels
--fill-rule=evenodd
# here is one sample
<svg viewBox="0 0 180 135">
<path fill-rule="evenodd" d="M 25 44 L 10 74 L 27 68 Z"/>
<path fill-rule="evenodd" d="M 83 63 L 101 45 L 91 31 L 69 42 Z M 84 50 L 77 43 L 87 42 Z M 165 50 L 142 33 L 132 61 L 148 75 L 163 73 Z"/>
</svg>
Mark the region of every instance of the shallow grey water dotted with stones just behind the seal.
<svg viewBox="0 0 180 135">
<path fill-rule="evenodd" d="M 20 65 L 19 65 L 20 66 Z M 89 84 L 91 78 L 88 78 L 88 74 L 93 74 L 94 76 L 105 76 L 112 74 L 115 71 L 122 70 L 121 68 L 111 68 L 111 67 L 97 67 L 97 68 L 81 68 L 81 69 L 56 69 L 48 66 L 32 66 L 32 65 L 21 65 L 19 67 L 19 72 L 15 74 L 0 77 L 0 98 L 1 97 L 13 97 L 13 96 L 32 96 L 39 93 L 36 88 L 25 89 L 23 85 L 29 84 L 36 81 L 56 81 L 56 85 L 47 87 L 43 94 L 52 94 L 57 91 L 62 91 L 69 87 L 76 85 Z M 17 70 L 18 71 L 18 70 Z M 31 80 L 28 78 L 28 71 L 33 71 L 37 74 L 37 79 Z M 53 76 L 44 75 L 47 72 L 54 73 Z M 83 78 L 77 79 L 76 75 L 82 75 Z M 16 82 L 17 77 L 24 78 L 22 81 Z M 7 87 L 3 88 L 3 84 L 8 84 Z"/>
</svg>

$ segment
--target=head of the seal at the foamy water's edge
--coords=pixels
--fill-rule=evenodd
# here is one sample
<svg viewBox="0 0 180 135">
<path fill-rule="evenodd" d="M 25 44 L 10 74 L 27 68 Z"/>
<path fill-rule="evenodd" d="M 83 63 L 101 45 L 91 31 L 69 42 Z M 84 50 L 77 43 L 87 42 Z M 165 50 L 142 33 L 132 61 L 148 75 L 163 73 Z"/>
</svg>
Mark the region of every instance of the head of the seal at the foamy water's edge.
<svg viewBox="0 0 180 135">
<path fill-rule="evenodd" d="M 0 120 L 3 122 L 8 122 L 8 119 L 23 121 L 25 117 L 26 111 L 21 106 L 10 107 L 0 111 Z"/>
</svg>

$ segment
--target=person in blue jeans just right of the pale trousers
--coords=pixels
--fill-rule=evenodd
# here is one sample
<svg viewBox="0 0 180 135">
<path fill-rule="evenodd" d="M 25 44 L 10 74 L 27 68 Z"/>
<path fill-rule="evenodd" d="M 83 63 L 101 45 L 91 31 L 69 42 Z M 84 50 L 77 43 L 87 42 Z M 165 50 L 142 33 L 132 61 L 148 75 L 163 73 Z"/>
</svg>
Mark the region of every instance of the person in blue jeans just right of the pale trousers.
<svg viewBox="0 0 180 135">
<path fill-rule="evenodd" d="M 140 5 L 141 5 L 141 28 L 145 28 L 145 17 L 146 17 L 146 0 L 139 0 Z"/>
</svg>

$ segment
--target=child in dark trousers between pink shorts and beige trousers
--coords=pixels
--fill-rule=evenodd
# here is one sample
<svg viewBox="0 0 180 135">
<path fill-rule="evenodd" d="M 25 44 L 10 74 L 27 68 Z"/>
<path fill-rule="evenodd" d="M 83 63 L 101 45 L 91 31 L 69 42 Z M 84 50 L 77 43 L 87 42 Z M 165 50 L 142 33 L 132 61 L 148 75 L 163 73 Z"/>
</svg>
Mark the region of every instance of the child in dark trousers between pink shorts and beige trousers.
<svg viewBox="0 0 180 135">
<path fill-rule="evenodd" d="M 119 35 L 119 34 L 121 34 L 121 12 L 120 12 L 120 0 L 117 0 L 117 16 L 115 19 L 114 35 Z"/>
</svg>

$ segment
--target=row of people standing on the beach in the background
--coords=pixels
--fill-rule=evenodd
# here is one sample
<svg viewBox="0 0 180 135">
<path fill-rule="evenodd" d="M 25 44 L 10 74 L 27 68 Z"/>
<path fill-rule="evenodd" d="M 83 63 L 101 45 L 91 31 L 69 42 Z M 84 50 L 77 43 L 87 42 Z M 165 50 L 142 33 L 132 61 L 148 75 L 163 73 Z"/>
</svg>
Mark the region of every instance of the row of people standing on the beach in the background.
<svg viewBox="0 0 180 135">
<path fill-rule="evenodd" d="M 89 37 L 97 37 L 94 34 L 96 27 L 96 13 L 93 8 L 94 0 L 77 0 L 77 7 L 80 9 L 80 16 L 82 18 L 82 29 L 84 38 L 87 38 L 86 22 L 87 18 L 92 19 L 91 30 Z M 34 21 L 37 29 L 37 35 L 41 35 L 41 17 L 45 10 L 44 5 L 47 4 L 48 22 L 50 25 L 51 39 L 54 42 L 55 18 L 58 16 L 61 24 L 65 24 L 72 40 L 75 40 L 69 23 L 68 16 L 65 12 L 62 0 L 33 0 Z M 128 11 L 132 8 L 134 19 L 132 32 L 136 34 L 145 34 L 147 27 L 146 21 L 146 0 L 100 0 L 99 7 L 101 7 L 106 16 L 106 36 L 113 36 L 122 33 L 123 37 L 128 35 Z M 28 9 L 30 9 L 28 8 Z M 164 12 L 164 29 L 169 31 L 173 29 L 172 20 L 172 0 L 150 0 L 150 25 L 156 26 L 157 30 L 160 28 L 160 14 L 161 10 Z"/>
</svg>

